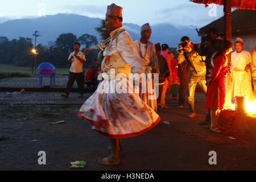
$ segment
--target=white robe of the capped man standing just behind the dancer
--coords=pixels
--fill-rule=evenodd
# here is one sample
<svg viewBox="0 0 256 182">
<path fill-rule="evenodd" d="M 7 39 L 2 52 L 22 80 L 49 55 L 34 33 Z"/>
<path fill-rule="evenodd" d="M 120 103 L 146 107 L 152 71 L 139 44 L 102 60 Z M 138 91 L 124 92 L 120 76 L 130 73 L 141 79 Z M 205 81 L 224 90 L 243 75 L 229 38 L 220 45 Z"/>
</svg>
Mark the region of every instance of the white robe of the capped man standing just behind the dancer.
<svg viewBox="0 0 256 182">
<path fill-rule="evenodd" d="M 141 57 L 141 72 L 142 73 L 151 73 L 152 67 L 156 67 L 155 61 L 156 59 L 156 51 L 155 51 L 155 44 L 147 41 L 147 44 L 142 44 L 141 40 L 135 40 L 134 41 L 134 47 L 138 53 L 138 55 Z M 152 65 L 152 67 L 151 67 Z M 146 93 L 143 93 L 142 85 L 140 86 L 140 92 L 139 97 L 141 97 L 141 100 L 144 101 L 148 106 L 150 106 L 155 111 L 158 110 L 158 105 L 156 101 L 156 90 L 155 90 L 155 84 L 154 84 L 154 78 L 150 79 L 147 77 L 147 83 L 145 84 L 147 90 Z M 149 99 L 150 98 L 150 99 Z"/>
</svg>

